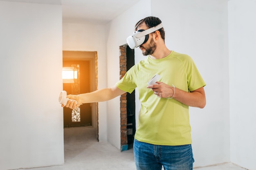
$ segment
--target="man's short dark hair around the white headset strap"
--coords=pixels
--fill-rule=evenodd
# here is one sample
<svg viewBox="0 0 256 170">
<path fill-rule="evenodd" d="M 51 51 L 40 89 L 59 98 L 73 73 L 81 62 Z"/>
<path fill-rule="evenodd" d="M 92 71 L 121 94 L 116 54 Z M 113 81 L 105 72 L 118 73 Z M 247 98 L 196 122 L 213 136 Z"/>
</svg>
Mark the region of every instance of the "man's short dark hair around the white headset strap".
<svg viewBox="0 0 256 170">
<path fill-rule="evenodd" d="M 145 23 L 148 28 L 152 28 L 152 27 L 157 26 L 158 24 L 162 23 L 162 21 L 157 17 L 149 16 L 142 20 L 139 20 L 135 24 L 135 30 L 137 30 L 137 28 L 139 26 L 141 26 L 142 23 Z M 158 31 L 160 32 L 160 35 L 161 35 L 162 39 L 164 40 L 164 38 L 165 38 L 164 28 L 161 28 Z"/>
</svg>

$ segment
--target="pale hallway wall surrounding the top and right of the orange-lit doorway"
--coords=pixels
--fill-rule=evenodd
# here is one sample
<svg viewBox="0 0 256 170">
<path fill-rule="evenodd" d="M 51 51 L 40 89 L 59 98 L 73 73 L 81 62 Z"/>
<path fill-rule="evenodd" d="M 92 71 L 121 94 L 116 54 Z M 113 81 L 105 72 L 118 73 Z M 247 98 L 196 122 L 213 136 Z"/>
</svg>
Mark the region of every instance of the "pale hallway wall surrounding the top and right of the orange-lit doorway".
<svg viewBox="0 0 256 170">
<path fill-rule="evenodd" d="M 63 50 L 97 51 L 98 89 L 107 87 L 104 25 L 63 23 Z M 107 103 L 99 102 L 99 141 L 107 141 Z"/>
</svg>

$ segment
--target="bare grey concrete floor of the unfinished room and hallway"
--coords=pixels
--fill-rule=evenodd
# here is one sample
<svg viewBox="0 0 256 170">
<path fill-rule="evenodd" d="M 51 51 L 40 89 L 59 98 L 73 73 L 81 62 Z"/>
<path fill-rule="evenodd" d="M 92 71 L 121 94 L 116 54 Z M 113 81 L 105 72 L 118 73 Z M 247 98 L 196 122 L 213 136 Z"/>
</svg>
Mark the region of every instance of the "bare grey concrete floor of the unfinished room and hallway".
<svg viewBox="0 0 256 170">
<path fill-rule="evenodd" d="M 29 170 L 135 170 L 132 149 L 120 152 L 108 143 L 98 142 L 96 129 L 91 126 L 64 128 L 64 148 L 64 165 Z M 232 163 L 194 169 L 245 170 Z"/>
</svg>

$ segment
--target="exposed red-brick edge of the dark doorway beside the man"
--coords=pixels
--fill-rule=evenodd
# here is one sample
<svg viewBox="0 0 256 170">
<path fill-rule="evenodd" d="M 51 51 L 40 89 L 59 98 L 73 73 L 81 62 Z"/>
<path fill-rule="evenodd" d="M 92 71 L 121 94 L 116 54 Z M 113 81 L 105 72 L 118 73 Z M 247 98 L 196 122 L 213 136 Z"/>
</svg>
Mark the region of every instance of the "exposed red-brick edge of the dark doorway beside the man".
<svg viewBox="0 0 256 170">
<path fill-rule="evenodd" d="M 124 77 L 126 69 L 126 46 L 120 46 L 120 79 Z M 120 97 L 120 117 L 121 117 L 121 146 L 126 145 L 127 141 L 127 110 L 126 110 L 127 100 L 126 93 Z"/>
</svg>

